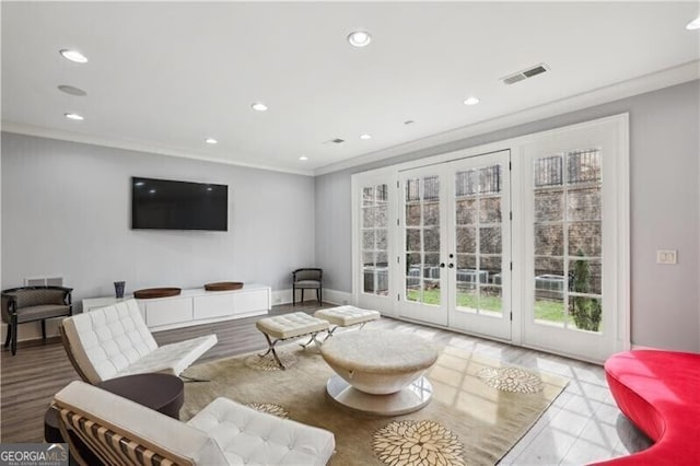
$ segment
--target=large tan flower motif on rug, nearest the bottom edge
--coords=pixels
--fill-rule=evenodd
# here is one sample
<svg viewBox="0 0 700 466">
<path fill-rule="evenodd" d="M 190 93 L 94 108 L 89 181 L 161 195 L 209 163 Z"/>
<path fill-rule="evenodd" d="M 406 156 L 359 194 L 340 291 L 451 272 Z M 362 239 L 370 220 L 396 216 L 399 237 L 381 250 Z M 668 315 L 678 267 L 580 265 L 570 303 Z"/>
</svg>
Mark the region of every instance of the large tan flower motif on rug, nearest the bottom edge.
<svg viewBox="0 0 700 466">
<path fill-rule="evenodd" d="M 466 466 L 464 445 L 450 429 L 433 421 L 393 421 L 374 432 L 374 454 L 390 466 Z"/>
</svg>

